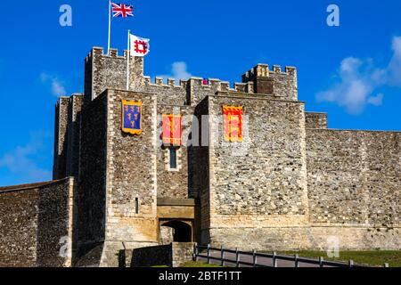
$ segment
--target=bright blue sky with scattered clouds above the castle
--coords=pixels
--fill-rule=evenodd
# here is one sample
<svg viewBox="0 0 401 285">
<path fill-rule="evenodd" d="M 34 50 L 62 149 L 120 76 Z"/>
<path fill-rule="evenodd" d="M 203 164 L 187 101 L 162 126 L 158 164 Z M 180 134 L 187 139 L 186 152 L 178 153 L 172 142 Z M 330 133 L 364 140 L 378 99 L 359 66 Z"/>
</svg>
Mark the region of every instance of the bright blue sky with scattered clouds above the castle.
<svg viewBox="0 0 401 285">
<path fill-rule="evenodd" d="M 122 1 L 124 2 L 124 1 Z M 258 62 L 299 69 L 299 99 L 331 128 L 401 130 L 401 3 L 367 1 L 127 0 L 135 18 L 113 20 L 151 39 L 145 74 L 241 81 Z M 72 27 L 61 27 L 61 4 Z M 340 7 L 340 27 L 326 8 Z M 82 92 L 86 54 L 107 45 L 108 1 L 7 5 L 0 32 L 0 185 L 51 179 L 57 94 Z"/>
</svg>

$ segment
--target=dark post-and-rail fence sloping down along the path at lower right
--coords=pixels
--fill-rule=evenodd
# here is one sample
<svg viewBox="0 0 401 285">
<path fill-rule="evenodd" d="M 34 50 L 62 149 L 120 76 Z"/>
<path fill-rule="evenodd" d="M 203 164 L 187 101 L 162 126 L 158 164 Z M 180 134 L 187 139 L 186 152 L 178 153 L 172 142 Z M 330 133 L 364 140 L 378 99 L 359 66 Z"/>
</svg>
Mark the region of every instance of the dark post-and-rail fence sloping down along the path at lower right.
<svg viewBox="0 0 401 285">
<path fill-rule="evenodd" d="M 231 254 L 232 258 L 227 257 L 227 254 Z M 241 260 L 242 256 L 247 256 L 245 259 Z M 259 257 L 259 258 L 258 258 Z M 260 261 L 260 259 L 264 259 Z M 193 246 L 193 260 L 205 260 L 208 264 L 211 261 L 217 261 L 221 266 L 235 266 L 241 267 L 241 265 L 251 266 L 251 267 L 300 267 L 300 265 L 316 265 L 316 267 L 371 267 L 369 265 L 357 265 L 353 260 L 348 262 L 330 261 L 324 260 L 323 256 L 319 258 L 307 258 L 300 257 L 299 255 L 294 256 L 283 256 L 278 255 L 275 252 L 268 253 L 258 253 L 256 250 L 252 252 L 241 251 L 236 249 L 224 248 L 212 248 L 210 245 L 201 246 L 194 244 Z M 280 266 L 279 261 L 287 261 L 293 264 L 290 266 L 288 263 L 286 265 Z M 216 264 L 216 263 L 215 263 Z M 384 267 L 389 267 L 389 264 L 384 264 Z"/>
</svg>

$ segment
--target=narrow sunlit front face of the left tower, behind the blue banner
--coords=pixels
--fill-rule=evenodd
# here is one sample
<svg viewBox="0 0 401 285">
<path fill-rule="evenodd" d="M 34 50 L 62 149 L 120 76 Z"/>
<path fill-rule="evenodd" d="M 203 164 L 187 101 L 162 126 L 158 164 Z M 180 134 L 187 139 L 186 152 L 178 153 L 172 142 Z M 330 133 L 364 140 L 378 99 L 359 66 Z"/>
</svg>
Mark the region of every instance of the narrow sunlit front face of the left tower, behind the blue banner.
<svg viewBox="0 0 401 285">
<path fill-rule="evenodd" d="M 158 242 L 156 96 L 121 90 L 106 90 L 101 96 L 107 102 L 107 216 L 101 266 L 117 266 L 123 242 L 138 245 L 131 248 Z M 142 134 L 122 132 L 123 99 L 143 102 Z"/>
</svg>

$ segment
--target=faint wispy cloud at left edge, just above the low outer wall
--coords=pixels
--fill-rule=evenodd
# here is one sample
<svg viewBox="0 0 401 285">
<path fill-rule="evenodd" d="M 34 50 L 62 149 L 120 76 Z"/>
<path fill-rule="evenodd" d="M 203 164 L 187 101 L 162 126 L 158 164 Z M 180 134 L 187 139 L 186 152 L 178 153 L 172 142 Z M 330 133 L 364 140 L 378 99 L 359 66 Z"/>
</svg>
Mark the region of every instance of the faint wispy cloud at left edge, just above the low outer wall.
<svg viewBox="0 0 401 285">
<path fill-rule="evenodd" d="M 49 180 L 52 172 L 37 165 L 37 159 L 44 157 L 44 141 L 49 134 L 36 132 L 24 146 L 17 146 L 0 157 L 0 168 L 4 167 L 21 179 L 21 183 Z"/>
</svg>

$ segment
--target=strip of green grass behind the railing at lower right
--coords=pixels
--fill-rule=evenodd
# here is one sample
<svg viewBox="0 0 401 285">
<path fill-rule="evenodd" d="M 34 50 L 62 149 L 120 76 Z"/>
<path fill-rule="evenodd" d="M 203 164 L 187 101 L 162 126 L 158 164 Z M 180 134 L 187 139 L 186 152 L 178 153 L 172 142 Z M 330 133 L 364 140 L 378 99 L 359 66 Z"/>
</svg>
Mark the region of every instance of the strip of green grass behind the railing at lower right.
<svg viewBox="0 0 401 285">
<path fill-rule="evenodd" d="M 369 250 L 369 251 L 340 251 L 340 257 L 329 258 L 325 251 L 285 251 L 279 254 L 300 257 L 317 258 L 323 256 L 325 260 L 346 261 L 352 259 L 361 265 L 383 266 L 388 263 L 390 267 L 401 267 L 401 250 Z"/>
</svg>

